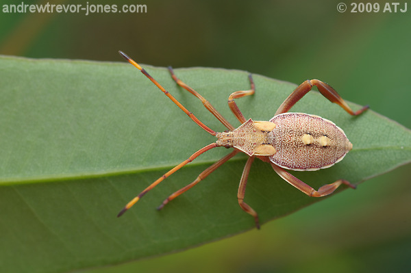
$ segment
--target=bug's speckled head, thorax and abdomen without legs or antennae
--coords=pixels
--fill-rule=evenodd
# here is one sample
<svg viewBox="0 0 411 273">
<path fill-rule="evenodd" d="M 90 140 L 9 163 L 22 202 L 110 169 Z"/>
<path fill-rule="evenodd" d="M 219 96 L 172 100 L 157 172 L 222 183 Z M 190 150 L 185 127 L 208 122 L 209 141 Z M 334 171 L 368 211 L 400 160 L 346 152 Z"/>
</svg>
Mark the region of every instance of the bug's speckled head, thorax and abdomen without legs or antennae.
<svg viewBox="0 0 411 273">
<path fill-rule="evenodd" d="M 270 121 L 250 118 L 234 131 L 216 137 L 219 146 L 236 148 L 250 157 L 269 157 L 273 164 L 289 170 L 329 168 L 352 148 L 344 131 L 333 122 L 302 113 L 279 114 Z"/>
</svg>

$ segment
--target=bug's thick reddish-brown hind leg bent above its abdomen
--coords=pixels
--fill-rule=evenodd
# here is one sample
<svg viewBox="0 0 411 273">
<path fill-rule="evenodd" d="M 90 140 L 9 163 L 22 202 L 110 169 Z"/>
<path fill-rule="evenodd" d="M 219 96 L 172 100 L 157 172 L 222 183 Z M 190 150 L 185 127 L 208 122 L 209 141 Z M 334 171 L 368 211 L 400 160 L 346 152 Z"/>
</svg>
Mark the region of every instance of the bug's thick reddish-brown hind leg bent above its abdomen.
<svg viewBox="0 0 411 273">
<path fill-rule="evenodd" d="M 295 105 L 297 101 L 310 92 L 312 86 L 316 86 L 323 96 L 325 96 L 332 103 L 337 103 L 340 107 L 343 107 L 343 109 L 345 109 L 345 111 L 347 111 L 350 115 L 357 116 L 369 108 L 369 105 L 366 105 L 358 111 L 353 112 L 353 110 L 351 110 L 351 108 L 347 105 L 347 103 L 345 103 L 343 98 L 341 98 L 334 88 L 323 81 L 319 81 L 318 79 L 308 79 L 295 88 L 295 90 L 290 94 L 290 96 L 288 96 L 282 105 L 279 105 L 275 115 L 288 112 L 288 110 L 290 110 L 290 108 Z"/>
</svg>

